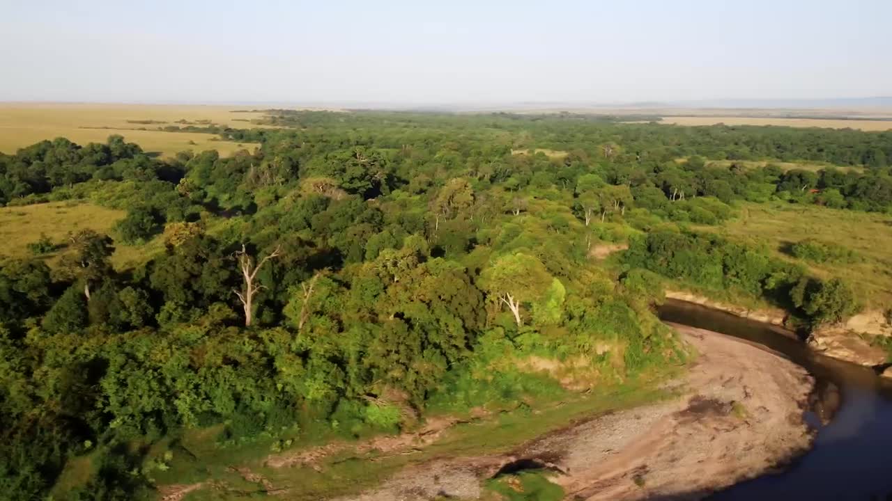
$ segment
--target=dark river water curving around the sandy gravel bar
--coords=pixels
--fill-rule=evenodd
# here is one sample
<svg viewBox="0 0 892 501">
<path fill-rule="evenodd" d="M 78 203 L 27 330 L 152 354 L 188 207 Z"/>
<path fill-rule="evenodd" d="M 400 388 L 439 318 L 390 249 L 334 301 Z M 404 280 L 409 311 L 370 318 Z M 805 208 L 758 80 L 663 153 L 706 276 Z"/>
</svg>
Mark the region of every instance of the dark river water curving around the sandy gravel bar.
<svg viewBox="0 0 892 501">
<path fill-rule="evenodd" d="M 674 300 L 659 308 L 659 316 L 760 343 L 805 367 L 819 386 L 835 385 L 841 394 L 830 423 L 810 416 L 818 428 L 810 452 L 784 472 L 739 483 L 710 499 L 892 501 L 892 385 L 871 369 L 816 355 L 795 334 L 772 325 Z"/>
</svg>

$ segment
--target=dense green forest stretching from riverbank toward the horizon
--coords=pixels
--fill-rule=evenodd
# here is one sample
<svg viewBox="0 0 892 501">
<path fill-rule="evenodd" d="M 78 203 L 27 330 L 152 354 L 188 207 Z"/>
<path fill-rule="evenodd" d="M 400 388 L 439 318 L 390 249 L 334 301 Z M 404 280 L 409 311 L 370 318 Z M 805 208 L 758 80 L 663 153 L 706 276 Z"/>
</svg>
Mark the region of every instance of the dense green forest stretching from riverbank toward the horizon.
<svg viewBox="0 0 892 501">
<path fill-rule="evenodd" d="M 690 355 L 650 309 L 668 282 L 810 326 L 887 307 L 814 268 L 882 256 L 720 233 L 778 203 L 885 218 L 889 132 L 264 116 L 195 127 L 259 144 L 226 158 L 161 159 L 121 136 L 0 154 L 4 234 L 33 235 L 60 204 L 120 216 L 42 223 L 0 250 L 3 496 L 151 497 L 210 478 L 178 463 L 198 448 L 225 464 L 652 381 Z M 629 250 L 592 258 L 617 243 Z"/>
</svg>

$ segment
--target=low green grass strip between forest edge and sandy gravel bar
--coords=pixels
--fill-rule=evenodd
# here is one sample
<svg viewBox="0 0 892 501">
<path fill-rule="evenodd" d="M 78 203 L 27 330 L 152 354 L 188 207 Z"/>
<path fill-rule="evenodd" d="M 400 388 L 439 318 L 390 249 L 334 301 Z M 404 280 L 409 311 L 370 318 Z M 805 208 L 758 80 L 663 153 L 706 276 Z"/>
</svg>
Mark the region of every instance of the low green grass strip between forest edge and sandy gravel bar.
<svg viewBox="0 0 892 501">
<path fill-rule="evenodd" d="M 527 406 L 510 412 L 494 412 L 489 418 L 453 426 L 444 432 L 441 439 L 414 454 L 380 456 L 348 451 L 327 457 L 318 464 L 318 469 L 306 466 L 273 469 L 264 466 L 263 461 L 269 454 L 268 442 L 244 448 L 217 448 L 213 446 L 213 433 L 204 439 L 187 437 L 179 442 L 179 447 L 185 448 L 187 453 L 175 451 L 169 470 L 158 480 L 162 484 L 206 480 L 222 480 L 227 484 L 227 489 L 199 490 L 190 495 L 189 499 L 194 500 L 235 499 L 245 492 L 262 492 L 263 487 L 258 483 L 246 489 L 244 479 L 231 468 L 243 466 L 261 475 L 276 489 L 287 489 L 289 499 L 317 501 L 348 495 L 372 488 L 411 464 L 422 464 L 437 458 L 508 453 L 528 440 L 557 431 L 579 419 L 670 397 L 671 394 L 665 390 L 657 389 L 657 382 L 665 381 L 677 370 L 677 367 L 662 369 L 659 374 L 640 376 L 618 385 L 605 385 L 590 394 L 572 394 L 560 402 L 526 402 Z M 192 431 L 190 434 L 200 432 Z M 235 490 L 240 492 L 236 493 Z"/>
</svg>

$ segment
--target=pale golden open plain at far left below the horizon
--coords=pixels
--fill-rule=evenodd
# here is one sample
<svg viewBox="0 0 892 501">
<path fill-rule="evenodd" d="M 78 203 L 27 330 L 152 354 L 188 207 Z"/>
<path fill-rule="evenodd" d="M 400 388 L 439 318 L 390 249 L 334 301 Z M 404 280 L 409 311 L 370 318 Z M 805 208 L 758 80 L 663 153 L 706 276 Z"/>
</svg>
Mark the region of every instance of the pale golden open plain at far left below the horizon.
<svg viewBox="0 0 892 501">
<path fill-rule="evenodd" d="M 250 108 L 250 107 L 248 107 Z M 149 104 L 70 104 L 0 103 L 0 152 L 14 153 L 23 146 L 45 139 L 67 137 L 78 144 L 104 143 L 120 134 L 139 144 L 146 152 L 172 156 L 186 150 L 217 150 L 228 155 L 252 150 L 254 144 L 215 141 L 217 136 L 194 132 L 163 132 L 159 127 L 220 125 L 261 127 L 252 120 L 260 112 L 233 112 L 238 106 L 149 105 Z M 186 120 L 191 124 L 177 123 Z"/>
</svg>

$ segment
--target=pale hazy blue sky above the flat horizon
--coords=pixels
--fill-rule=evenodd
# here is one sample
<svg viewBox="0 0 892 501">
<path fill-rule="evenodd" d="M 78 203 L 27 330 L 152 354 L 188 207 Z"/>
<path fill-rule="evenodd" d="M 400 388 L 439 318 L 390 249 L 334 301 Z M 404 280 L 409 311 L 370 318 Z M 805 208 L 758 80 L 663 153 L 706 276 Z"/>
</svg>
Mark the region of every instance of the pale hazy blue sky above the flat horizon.
<svg viewBox="0 0 892 501">
<path fill-rule="evenodd" d="M 0 101 L 892 95 L 890 0 L 0 0 Z"/>
</svg>

